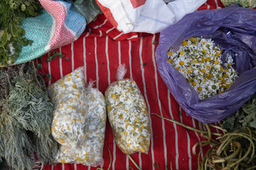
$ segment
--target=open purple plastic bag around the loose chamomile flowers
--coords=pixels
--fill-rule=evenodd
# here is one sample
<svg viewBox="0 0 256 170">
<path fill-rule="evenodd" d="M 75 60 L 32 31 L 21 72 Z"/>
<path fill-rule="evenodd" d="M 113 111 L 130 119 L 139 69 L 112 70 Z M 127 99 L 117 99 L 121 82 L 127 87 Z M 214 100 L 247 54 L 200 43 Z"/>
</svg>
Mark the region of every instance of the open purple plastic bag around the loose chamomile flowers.
<svg viewBox="0 0 256 170">
<path fill-rule="evenodd" d="M 197 92 L 168 62 L 170 47 L 178 50 L 192 36 L 212 38 L 235 62 L 239 78 L 223 94 L 200 101 Z M 236 55 L 237 54 L 237 55 Z M 156 63 L 171 94 L 187 115 L 202 123 L 214 123 L 237 111 L 256 92 L 256 10 L 230 6 L 196 11 L 161 31 Z"/>
</svg>

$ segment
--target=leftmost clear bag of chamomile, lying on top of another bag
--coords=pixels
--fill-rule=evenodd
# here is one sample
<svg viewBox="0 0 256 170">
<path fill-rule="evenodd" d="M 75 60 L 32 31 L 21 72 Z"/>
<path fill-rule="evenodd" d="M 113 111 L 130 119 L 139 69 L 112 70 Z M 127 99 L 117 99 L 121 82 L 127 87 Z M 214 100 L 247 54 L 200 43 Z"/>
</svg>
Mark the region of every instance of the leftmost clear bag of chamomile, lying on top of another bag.
<svg viewBox="0 0 256 170">
<path fill-rule="evenodd" d="M 81 69 L 56 81 L 48 91 L 55 104 L 52 135 L 61 145 L 76 145 L 85 132 L 88 108 Z"/>
</svg>

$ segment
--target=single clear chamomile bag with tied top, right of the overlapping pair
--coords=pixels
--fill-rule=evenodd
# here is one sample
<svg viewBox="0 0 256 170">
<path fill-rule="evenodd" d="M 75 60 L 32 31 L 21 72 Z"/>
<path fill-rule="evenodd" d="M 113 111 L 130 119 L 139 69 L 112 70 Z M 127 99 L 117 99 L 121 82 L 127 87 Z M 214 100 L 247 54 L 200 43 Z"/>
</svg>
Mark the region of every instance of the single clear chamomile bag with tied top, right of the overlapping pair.
<svg viewBox="0 0 256 170">
<path fill-rule="evenodd" d="M 150 143 L 149 115 L 137 84 L 123 79 L 125 65 L 117 71 L 114 81 L 105 91 L 107 116 L 114 140 L 125 154 L 148 153 Z"/>
</svg>

